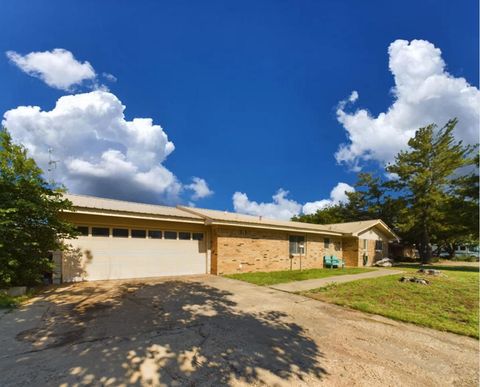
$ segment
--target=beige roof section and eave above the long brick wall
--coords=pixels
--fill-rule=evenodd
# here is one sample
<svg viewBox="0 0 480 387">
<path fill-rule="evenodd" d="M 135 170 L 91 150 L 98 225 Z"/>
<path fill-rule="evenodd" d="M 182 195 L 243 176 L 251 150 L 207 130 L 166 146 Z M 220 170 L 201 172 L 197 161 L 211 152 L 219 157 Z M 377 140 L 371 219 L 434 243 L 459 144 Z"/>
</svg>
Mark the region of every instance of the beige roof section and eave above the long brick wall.
<svg viewBox="0 0 480 387">
<path fill-rule="evenodd" d="M 285 220 L 268 219 L 261 216 L 243 215 L 234 212 L 207 210 L 204 208 L 177 206 L 177 208 L 205 218 L 206 224 L 223 226 L 242 226 L 266 228 L 273 230 L 289 230 L 324 235 L 342 235 L 342 232 L 332 230 L 327 225 L 290 222 Z"/>
</svg>

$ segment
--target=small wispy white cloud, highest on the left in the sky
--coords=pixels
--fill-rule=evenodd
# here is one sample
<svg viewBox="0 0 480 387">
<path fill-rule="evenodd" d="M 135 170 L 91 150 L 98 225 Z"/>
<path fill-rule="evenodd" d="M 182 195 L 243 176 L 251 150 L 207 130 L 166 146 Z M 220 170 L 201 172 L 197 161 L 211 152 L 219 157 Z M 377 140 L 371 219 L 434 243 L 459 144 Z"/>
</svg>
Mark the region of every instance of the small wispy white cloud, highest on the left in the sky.
<svg viewBox="0 0 480 387">
<path fill-rule="evenodd" d="M 79 62 L 70 51 L 62 48 L 31 52 L 27 55 L 7 51 L 6 55 L 22 71 L 40 78 L 47 85 L 56 89 L 71 91 L 75 85 L 80 85 L 86 80 L 94 81 L 96 79 L 95 71 L 90 63 Z"/>
</svg>

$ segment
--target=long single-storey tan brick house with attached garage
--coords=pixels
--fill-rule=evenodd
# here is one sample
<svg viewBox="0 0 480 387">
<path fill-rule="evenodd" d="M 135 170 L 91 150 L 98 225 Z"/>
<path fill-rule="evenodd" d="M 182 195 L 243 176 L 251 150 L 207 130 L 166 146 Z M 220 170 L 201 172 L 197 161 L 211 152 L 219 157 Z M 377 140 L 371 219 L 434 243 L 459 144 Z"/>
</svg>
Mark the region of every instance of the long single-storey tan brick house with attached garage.
<svg viewBox="0 0 480 387">
<path fill-rule="evenodd" d="M 80 236 L 54 254 L 55 282 L 370 266 L 397 236 L 381 221 L 309 224 L 193 207 L 65 195 Z"/>
</svg>

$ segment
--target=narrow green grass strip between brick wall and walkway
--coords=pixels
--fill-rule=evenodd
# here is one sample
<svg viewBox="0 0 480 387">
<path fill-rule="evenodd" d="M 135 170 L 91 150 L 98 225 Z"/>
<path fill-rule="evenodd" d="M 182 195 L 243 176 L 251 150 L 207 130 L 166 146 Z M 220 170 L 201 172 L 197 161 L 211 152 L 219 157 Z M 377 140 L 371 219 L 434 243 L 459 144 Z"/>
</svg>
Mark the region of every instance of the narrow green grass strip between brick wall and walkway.
<svg viewBox="0 0 480 387">
<path fill-rule="evenodd" d="M 275 285 L 285 282 L 302 281 L 306 279 L 325 278 L 344 274 L 359 274 L 372 271 L 374 269 L 363 268 L 345 268 L 345 269 L 309 269 L 309 270 L 285 270 L 273 272 L 257 272 L 231 274 L 225 277 L 250 282 L 255 285 Z"/>
</svg>

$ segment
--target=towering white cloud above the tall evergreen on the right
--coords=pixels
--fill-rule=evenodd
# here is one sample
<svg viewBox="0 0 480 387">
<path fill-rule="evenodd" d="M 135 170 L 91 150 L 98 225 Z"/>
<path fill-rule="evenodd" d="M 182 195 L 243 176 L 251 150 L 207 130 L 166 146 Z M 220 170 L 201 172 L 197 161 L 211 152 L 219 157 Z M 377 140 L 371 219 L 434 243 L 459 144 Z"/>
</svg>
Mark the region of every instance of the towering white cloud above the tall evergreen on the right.
<svg viewBox="0 0 480 387">
<path fill-rule="evenodd" d="M 394 102 L 376 117 L 366 109 L 353 113 L 345 110 L 357 101 L 356 91 L 338 104 L 337 119 L 349 142 L 340 145 L 335 154 L 337 162 L 356 171 L 367 160 L 391 162 L 418 128 L 430 123 L 443 126 L 454 117 L 459 119 L 457 139 L 476 143 L 480 92 L 464 78 L 445 70 L 440 49 L 425 40 L 396 40 L 388 53 L 395 81 Z"/>
</svg>

